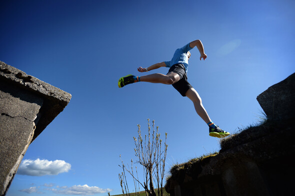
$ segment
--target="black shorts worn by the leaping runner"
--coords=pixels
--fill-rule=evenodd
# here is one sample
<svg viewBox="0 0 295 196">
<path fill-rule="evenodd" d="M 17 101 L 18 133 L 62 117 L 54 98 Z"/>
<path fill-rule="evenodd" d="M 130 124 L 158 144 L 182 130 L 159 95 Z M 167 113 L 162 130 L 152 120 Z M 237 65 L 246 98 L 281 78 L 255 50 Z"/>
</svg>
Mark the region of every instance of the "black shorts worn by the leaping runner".
<svg viewBox="0 0 295 196">
<path fill-rule="evenodd" d="M 174 72 L 177 73 L 180 76 L 180 79 L 173 83 L 172 86 L 182 95 L 185 96 L 186 91 L 189 88 L 192 88 L 192 85 L 190 85 L 190 83 L 188 83 L 187 81 L 187 74 L 185 72 L 185 68 L 183 64 L 173 64 L 170 68 L 169 68 L 169 72 Z M 168 74 L 167 73 L 167 74 Z"/>
</svg>

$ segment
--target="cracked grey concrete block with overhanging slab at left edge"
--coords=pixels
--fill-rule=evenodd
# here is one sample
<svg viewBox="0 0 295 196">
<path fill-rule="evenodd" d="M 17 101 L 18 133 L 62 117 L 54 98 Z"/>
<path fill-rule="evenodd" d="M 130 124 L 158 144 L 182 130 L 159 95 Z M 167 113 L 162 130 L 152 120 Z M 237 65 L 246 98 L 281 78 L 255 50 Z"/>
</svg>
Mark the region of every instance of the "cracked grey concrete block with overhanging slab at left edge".
<svg viewBox="0 0 295 196">
<path fill-rule="evenodd" d="M 67 105 L 71 95 L 0 61 L 0 195 L 28 145 Z"/>
</svg>

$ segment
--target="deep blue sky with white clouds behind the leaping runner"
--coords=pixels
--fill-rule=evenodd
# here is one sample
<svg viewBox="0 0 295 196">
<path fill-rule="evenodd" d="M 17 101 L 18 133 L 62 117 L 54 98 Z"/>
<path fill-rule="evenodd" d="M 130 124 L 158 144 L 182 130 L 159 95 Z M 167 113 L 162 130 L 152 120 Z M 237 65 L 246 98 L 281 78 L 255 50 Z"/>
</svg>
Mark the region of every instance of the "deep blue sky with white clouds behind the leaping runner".
<svg viewBox="0 0 295 196">
<path fill-rule="evenodd" d="M 1 0 L 0 60 L 72 95 L 28 147 L 6 195 L 119 194 L 119 155 L 134 158 L 136 124 L 145 132 L 147 118 L 167 132 L 167 171 L 218 151 L 172 86 L 118 88 L 118 78 L 143 75 L 138 66 L 200 39 L 207 59 L 191 50 L 188 81 L 210 118 L 235 132 L 258 121 L 256 96 L 295 71 L 294 8 L 294 0 Z"/>
</svg>

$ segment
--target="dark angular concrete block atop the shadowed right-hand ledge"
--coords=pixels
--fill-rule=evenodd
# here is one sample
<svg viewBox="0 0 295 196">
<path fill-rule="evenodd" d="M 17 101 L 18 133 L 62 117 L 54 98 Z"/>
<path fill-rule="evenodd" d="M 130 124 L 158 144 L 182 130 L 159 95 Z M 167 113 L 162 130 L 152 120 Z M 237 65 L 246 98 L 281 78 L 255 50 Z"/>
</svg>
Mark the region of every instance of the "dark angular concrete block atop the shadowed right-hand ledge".
<svg viewBox="0 0 295 196">
<path fill-rule="evenodd" d="M 271 120 L 295 118 L 295 73 L 267 88 L 257 101 Z"/>
</svg>

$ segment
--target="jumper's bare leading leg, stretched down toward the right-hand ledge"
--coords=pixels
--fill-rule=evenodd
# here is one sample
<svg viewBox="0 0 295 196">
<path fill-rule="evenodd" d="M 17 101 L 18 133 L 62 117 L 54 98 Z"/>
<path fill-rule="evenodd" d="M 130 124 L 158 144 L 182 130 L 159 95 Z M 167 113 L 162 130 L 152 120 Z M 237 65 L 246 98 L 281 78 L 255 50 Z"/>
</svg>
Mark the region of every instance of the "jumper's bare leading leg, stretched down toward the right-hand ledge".
<svg viewBox="0 0 295 196">
<path fill-rule="evenodd" d="M 198 95 L 197 91 L 194 88 L 190 88 L 186 91 L 185 95 L 193 102 L 194 109 L 196 113 L 206 122 L 210 122 L 211 119 L 205 110 L 203 104 L 202 104 L 202 99 Z"/>
</svg>

